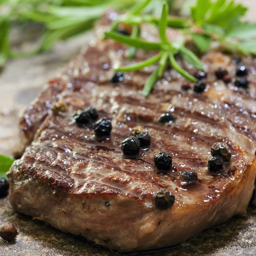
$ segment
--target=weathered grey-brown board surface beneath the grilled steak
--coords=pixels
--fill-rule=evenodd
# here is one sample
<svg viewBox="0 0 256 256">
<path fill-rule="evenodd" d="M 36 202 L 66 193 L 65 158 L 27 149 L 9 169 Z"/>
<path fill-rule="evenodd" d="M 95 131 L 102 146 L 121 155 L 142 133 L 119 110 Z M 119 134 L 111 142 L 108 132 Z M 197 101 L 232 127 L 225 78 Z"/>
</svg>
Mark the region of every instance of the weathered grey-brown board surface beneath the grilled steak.
<svg viewBox="0 0 256 256">
<path fill-rule="evenodd" d="M 242 1 L 242 0 L 241 0 Z M 250 20 L 256 21 L 256 1 L 251 5 Z M 255 6 L 255 7 L 253 7 Z M 35 32 L 30 29 L 30 32 Z M 16 35 L 20 44 L 21 35 Z M 26 34 L 27 38 L 27 34 Z M 45 54 L 9 61 L 0 74 L 0 154 L 12 155 L 17 141 L 19 111 L 38 94 L 44 82 L 55 76 L 58 69 L 88 44 L 91 33 L 56 44 Z M 25 40 L 24 47 L 29 48 Z M 20 232 L 15 242 L 0 239 L 0 256 L 111 256 L 108 249 L 90 244 L 81 237 L 62 233 L 43 222 L 15 213 L 8 198 L 0 199 L 0 224 L 12 222 Z M 255 256 L 256 209 L 236 216 L 227 224 L 198 235 L 192 241 L 169 250 L 145 253 L 144 256 Z"/>
</svg>

